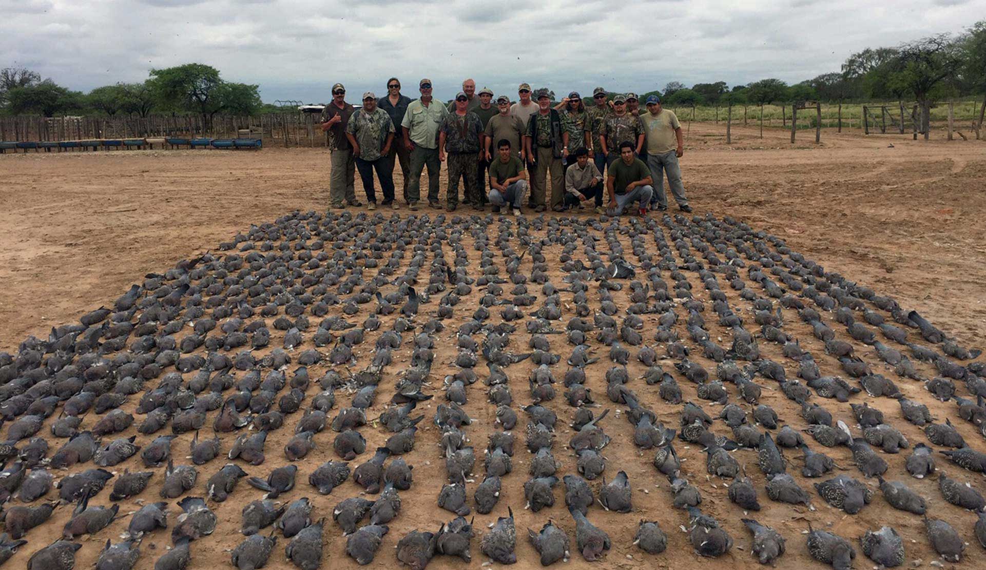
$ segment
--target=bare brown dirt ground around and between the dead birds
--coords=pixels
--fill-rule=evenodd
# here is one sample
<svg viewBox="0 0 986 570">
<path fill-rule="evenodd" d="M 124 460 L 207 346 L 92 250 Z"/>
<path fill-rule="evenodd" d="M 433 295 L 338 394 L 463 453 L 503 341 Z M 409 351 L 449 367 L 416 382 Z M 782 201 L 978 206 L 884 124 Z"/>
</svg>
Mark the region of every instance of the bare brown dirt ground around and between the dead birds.
<svg viewBox="0 0 986 570">
<path fill-rule="evenodd" d="M 975 347 L 986 345 L 981 332 L 986 321 L 986 307 L 983 306 L 986 294 L 982 288 L 986 280 L 986 243 L 982 239 L 986 232 L 986 217 L 982 216 L 986 209 L 986 195 L 982 192 L 986 187 L 986 142 L 924 142 L 911 141 L 909 136 L 863 137 L 855 133 L 825 131 L 822 133 L 824 143 L 820 146 L 809 142 L 810 137 L 806 133 L 800 133 L 802 140 L 792 147 L 786 131 L 768 131 L 766 138 L 760 139 L 752 128 L 735 128 L 734 144 L 727 146 L 724 134 L 723 128 L 711 124 L 696 123 L 690 128 L 681 165 L 695 214 L 708 212 L 719 218 L 733 216 L 755 229 L 775 234 L 786 240 L 792 249 L 821 263 L 827 270 L 838 271 L 882 295 L 894 297 L 905 308 L 917 310 L 953 335 L 960 344 Z M 110 306 L 131 283 L 140 283 L 145 273 L 163 271 L 174 266 L 177 260 L 196 252 L 215 250 L 220 242 L 246 231 L 250 224 L 272 221 L 293 210 L 323 209 L 328 201 L 328 154 L 320 149 L 268 148 L 255 153 L 139 151 L 0 156 L 0 174 L 3 175 L 0 178 L 3 180 L 0 186 L 0 351 L 10 352 L 14 352 L 27 335 L 44 338 L 52 325 L 76 321 L 92 309 Z M 357 182 L 357 195 L 360 194 Z M 407 213 L 406 208 L 398 212 L 401 215 Z M 387 216 L 390 214 L 389 211 L 384 213 Z M 623 239 L 626 240 L 625 236 Z M 629 249 L 628 240 L 623 245 Z M 476 251 L 470 250 L 469 254 L 473 261 L 478 259 Z M 448 250 L 446 255 L 449 255 Z M 745 272 L 743 275 L 745 277 Z M 560 277 L 560 272 L 556 276 L 553 274 L 556 283 L 560 282 Z M 701 289 L 696 276 L 689 277 L 695 279 L 693 286 Z M 728 293 L 731 303 L 741 303 L 735 292 Z M 619 301 L 625 302 L 625 295 L 625 291 L 614 294 L 618 305 Z M 471 314 L 471 310 L 457 309 L 457 321 L 448 323 L 445 336 L 454 337 L 458 320 Z M 798 321 L 794 312 L 788 312 L 786 316 L 791 319 L 785 326 L 790 327 L 816 355 L 822 373 L 839 374 L 837 361 L 822 354 L 823 346 L 811 336 L 810 328 Z M 362 315 L 358 317 L 363 318 Z M 386 329 L 390 321 L 392 318 L 385 320 L 382 329 Z M 647 321 L 644 337 L 649 340 L 652 334 L 648 331 L 653 330 L 655 317 L 650 316 Z M 837 327 L 833 322 L 829 324 Z M 848 338 L 841 332 L 842 328 L 839 329 L 840 337 Z M 681 332 L 682 337 L 686 337 L 683 329 Z M 519 331 L 516 336 L 514 342 L 524 342 L 526 345 L 527 334 Z M 561 339 L 552 342 L 559 344 L 553 346 L 556 352 L 563 356 L 568 354 L 570 347 Z M 728 341 L 725 343 L 728 344 Z M 520 348 L 517 350 L 520 351 Z M 767 344 L 763 350 L 770 358 L 791 366 L 790 361 L 783 360 L 779 347 Z M 368 353 L 369 350 L 364 352 Z M 383 409 L 397 372 L 409 362 L 406 345 L 396 353 L 399 356 L 389 367 L 391 372 L 387 382 L 382 384 L 382 395 L 373 410 L 375 413 Z M 659 349 L 661 353 L 663 351 Z M 435 374 L 448 370 L 454 356 L 452 347 L 439 351 L 436 359 L 438 372 Z M 364 354 L 360 362 L 365 365 L 368 358 L 368 354 Z M 878 361 L 871 349 L 867 349 L 864 359 L 876 367 Z M 710 371 L 714 370 L 715 363 L 701 358 L 696 360 Z M 597 412 L 603 407 L 618 407 L 612 406 L 604 395 L 602 373 L 609 365 L 608 361 L 600 361 L 591 369 L 596 374 L 590 376 L 590 388 L 598 394 L 597 399 L 602 404 Z M 564 365 L 560 366 L 564 369 Z M 670 369 L 670 362 L 666 362 L 665 367 Z M 516 385 L 515 407 L 528 403 L 529 394 L 524 381 L 531 368 L 529 363 L 522 363 L 511 369 L 512 385 Z M 643 370 L 640 363 L 632 363 L 631 378 L 636 378 Z M 921 365 L 921 371 L 929 377 L 936 375 L 928 365 Z M 892 372 L 887 375 L 892 376 Z M 317 378 L 320 373 L 312 376 Z M 789 376 L 793 374 L 789 373 Z M 919 383 L 896 377 L 894 380 L 907 397 L 926 402 L 939 420 L 944 421 L 948 415 L 954 417 L 953 404 L 933 400 Z M 631 382 L 637 392 L 643 393 L 647 389 L 640 381 Z M 693 387 L 687 381 L 679 378 L 679 383 L 686 394 L 693 396 Z M 151 384 L 154 384 L 153 381 Z M 441 399 L 441 387 L 436 382 L 432 388 L 438 392 L 433 400 L 437 404 Z M 310 395 L 316 389 L 310 389 Z M 493 406 L 485 401 L 482 390 L 483 387 L 478 384 L 471 388 L 469 404 L 465 406 L 473 418 L 480 420 L 469 430 L 477 455 L 485 447 L 486 436 L 493 431 L 490 425 Z M 967 395 L 964 391 L 962 394 Z M 341 396 L 339 401 L 346 402 L 346 396 Z M 774 406 L 783 419 L 795 425 L 803 423 L 798 407 L 780 392 L 765 390 L 763 401 Z M 135 403 L 136 398 L 132 397 L 125 409 L 132 411 Z M 665 423 L 676 427 L 677 407 L 665 406 L 654 393 L 647 396 L 645 403 L 658 410 Z M 710 414 L 718 414 L 718 406 L 705 401 L 702 403 Z M 820 403 L 833 412 L 837 410 L 838 418 L 855 426 L 847 404 L 837 404 L 834 400 Z M 570 434 L 565 433 L 567 428 L 562 425 L 569 421 L 570 411 L 565 409 L 563 401 L 555 401 L 554 404 L 555 409 L 559 410 L 555 456 L 563 463 L 561 473 L 573 472 L 574 458 L 565 448 Z M 872 404 L 879 406 L 893 420 L 894 427 L 908 437 L 911 445 L 926 441 L 918 428 L 899 417 L 896 402 L 877 398 Z M 434 404 L 423 407 L 424 413 L 428 414 L 426 421 L 430 422 Z M 523 413 L 521 416 L 524 417 Z M 210 414 L 210 422 L 211 418 Z M 85 425 L 91 425 L 92 421 L 93 418 L 89 418 Z M 283 464 L 280 449 L 288 438 L 284 432 L 290 431 L 287 426 L 293 425 L 294 421 L 289 418 L 276 439 L 268 439 L 267 462 L 258 467 L 246 465 L 247 472 L 265 476 L 271 468 Z M 964 421 L 955 423 L 970 446 L 986 451 L 986 445 L 976 430 Z M 725 429 L 718 420 L 716 426 L 720 431 Z M 590 519 L 613 539 L 613 548 L 602 562 L 594 566 L 633 568 L 646 562 L 652 567 L 673 568 L 696 561 L 712 568 L 757 566 L 749 554 L 749 534 L 739 522 L 742 512 L 726 498 L 722 481 L 707 478 L 705 456 L 696 446 L 689 448 L 676 442 L 681 456 L 688 460 L 684 470 L 706 497 L 703 509 L 724 524 L 738 546 L 727 556 L 712 562 L 695 555 L 686 535 L 679 532 L 678 525 L 685 524 L 686 517 L 670 509 L 668 483 L 663 477 L 656 476 L 650 464 L 653 452 L 642 454 L 633 447 L 629 438 L 632 426 L 622 418 L 611 415 L 604 427 L 613 437 L 613 443 L 604 454 L 610 462 L 607 480 L 618 468 L 628 472 L 634 487 L 635 512 L 621 515 L 604 512 L 599 507 L 593 510 Z M 519 447 L 523 446 L 523 429 L 515 431 Z M 853 431 L 858 432 L 855 427 Z M 372 450 L 389 435 L 384 430 L 370 427 L 363 428 L 361 432 L 368 438 L 370 451 L 355 460 L 353 466 L 369 459 Z M 49 435 L 46 431 L 42 433 Z M 122 435 L 130 433 L 135 433 L 133 428 Z M 432 445 L 438 437 L 434 425 L 429 423 L 419 434 L 415 451 L 406 456 L 408 463 L 416 467 L 415 486 L 401 493 L 401 513 L 391 523 L 390 534 L 373 567 L 392 567 L 392 547 L 399 537 L 411 529 L 437 530 L 441 522 L 453 518 L 450 513 L 435 506 L 438 480 L 444 471 L 440 452 Z M 138 436 L 138 439 L 146 443 L 152 438 Z M 228 437 L 224 436 L 224 453 L 229 450 L 233 439 L 229 434 Z M 190 434 L 176 440 L 176 459 L 184 456 L 189 440 Z M 304 462 L 310 466 L 302 466 L 297 487 L 281 497 L 286 502 L 303 496 L 311 497 L 316 504 L 316 517 L 330 515 L 332 506 L 343 498 L 356 495 L 359 490 L 350 480 L 323 497 L 308 485 L 307 475 L 315 465 L 336 459 L 331 451 L 329 432 L 321 434 L 318 441 L 323 445 Z M 53 447 L 60 443 L 53 444 Z M 812 445 L 812 449 L 816 446 Z M 837 463 L 849 465 L 851 462 L 846 450 L 825 451 L 831 452 L 829 455 Z M 847 516 L 828 507 L 817 497 L 810 488 L 810 483 L 817 482 L 817 479 L 811 481 L 799 476 L 802 486 L 811 491 L 817 511 L 772 503 L 762 494 L 762 475 L 755 465 L 749 465 L 755 463 L 753 454 L 736 454 L 741 463 L 748 464 L 750 471 L 756 471 L 750 472 L 750 476 L 756 481 L 761 502 L 765 505 L 764 511 L 750 515 L 775 527 L 788 539 L 788 554 L 781 559 L 782 564 L 820 567 L 808 556 L 805 538 L 801 534 L 807 530 L 806 521 L 811 521 L 816 527 L 831 526 L 834 532 L 854 540 L 865 530 L 876 530 L 892 521 L 905 538 L 907 563 L 920 560 L 920 566 L 927 566 L 935 558 L 927 545 L 921 519 L 890 509 L 880 497 L 879 490 L 872 505 L 857 516 Z M 897 456 L 881 454 L 881 457 L 890 463 L 892 478 L 906 479 L 913 489 L 928 499 L 930 511 L 949 521 L 968 541 L 966 554 L 969 559 L 962 566 L 976 564 L 975 560 L 981 557 L 982 551 L 971 531 L 975 516 L 946 504 L 934 480 L 918 481 L 908 477 L 903 471 L 905 455 L 906 451 Z M 788 456 L 795 458 L 792 467 L 798 466 L 789 470 L 800 471 L 799 454 L 789 452 Z M 200 494 L 205 478 L 222 463 L 223 458 L 220 458 L 200 468 L 198 487 L 189 494 Z M 514 472 L 505 477 L 505 489 L 498 508 L 491 515 L 476 517 L 474 566 L 487 560 L 479 553 L 479 536 L 487 531 L 487 524 L 496 520 L 496 515 L 505 513 L 506 505 L 511 505 L 517 515 L 517 552 L 521 560 L 518 567 L 537 565 L 535 553 L 526 539 L 526 529 L 539 528 L 549 517 L 565 528 L 574 542 L 574 526 L 561 499 L 564 489 L 556 489 L 559 501 L 553 508 L 538 514 L 525 511 L 522 489 L 528 477 L 525 450 L 518 450 L 514 464 Z M 139 468 L 139 459 L 132 458 L 113 470 L 126 466 Z M 981 492 L 986 491 L 986 484 L 980 477 L 973 477 L 971 473 L 947 464 L 944 458 L 940 458 L 940 466 L 947 466 L 951 476 L 973 481 Z M 477 470 L 481 471 L 481 463 L 477 463 Z M 846 472 L 862 478 L 855 468 L 850 467 Z M 472 484 L 478 484 L 478 480 Z M 152 480 L 151 488 L 144 493 L 149 495 L 148 502 L 157 498 L 157 488 Z M 470 486 L 470 498 L 472 489 Z M 644 489 L 648 492 L 645 493 Z M 107 504 L 106 494 L 106 491 L 101 494 L 99 504 Z M 193 543 L 192 567 L 229 564 L 230 549 L 242 539 L 237 534 L 242 506 L 259 498 L 259 495 L 259 491 L 241 482 L 229 501 L 214 506 L 220 526 L 216 534 Z M 56 496 L 56 492 L 52 491 L 51 496 Z M 124 501 L 121 512 L 136 508 L 137 503 L 131 499 Z M 50 531 L 51 538 L 44 534 L 44 529 L 35 529 L 28 534 L 29 544 L 19 551 L 9 565 L 24 567 L 28 556 L 61 530 L 69 518 L 69 510 L 67 507 L 61 508 L 45 525 L 44 529 Z M 176 510 L 173 506 L 170 521 L 174 521 Z M 669 549 L 664 554 L 645 555 L 630 543 L 641 519 L 659 521 L 669 534 Z M 126 524 L 126 520 L 114 523 L 109 529 L 83 539 L 84 546 L 77 557 L 78 567 L 89 567 L 96 560 L 106 538 L 117 541 Z M 334 566 L 341 563 L 355 567 L 355 563 L 345 556 L 344 538 L 338 534 L 334 525 L 330 522 L 326 524 L 327 545 L 323 564 Z M 151 568 L 168 542 L 166 532 L 145 538 L 143 556 L 137 567 Z M 270 567 L 286 566 L 283 557 L 286 543 L 283 537 L 279 540 Z M 856 567 L 872 566 L 873 563 L 862 556 L 858 541 L 855 545 L 859 551 Z M 572 554 L 568 564 L 588 566 L 579 554 L 574 551 Z M 439 557 L 430 567 L 460 566 L 458 560 Z"/>
</svg>

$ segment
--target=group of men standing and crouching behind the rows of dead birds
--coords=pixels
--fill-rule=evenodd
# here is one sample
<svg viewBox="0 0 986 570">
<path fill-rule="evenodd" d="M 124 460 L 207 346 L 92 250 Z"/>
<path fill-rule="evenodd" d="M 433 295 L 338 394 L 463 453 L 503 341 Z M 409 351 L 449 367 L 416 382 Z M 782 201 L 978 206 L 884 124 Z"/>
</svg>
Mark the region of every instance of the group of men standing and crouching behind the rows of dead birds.
<svg viewBox="0 0 986 570">
<path fill-rule="evenodd" d="M 636 207 L 646 214 L 668 209 L 666 176 L 678 208 L 691 211 L 677 161 L 684 151 L 681 126 L 655 95 L 641 108 L 633 93 L 609 101 L 598 87 L 593 105 L 572 92 L 551 107 L 546 90 L 534 93 L 522 83 L 519 101 L 511 104 L 506 95 L 494 102 L 489 89 L 476 94 L 475 82 L 467 79 L 446 107 L 432 99 L 430 79 L 418 83 L 419 99 L 411 100 L 400 89 L 400 81 L 391 77 L 387 97 L 364 93 L 357 110 L 346 103 L 342 84 L 332 86 L 332 102 L 320 118 L 331 156 L 331 207 L 362 205 L 354 187 L 358 171 L 369 209 L 377 207 L 374 172 L 382 205 L 397 208 L 393 170 L 399 163 L 408 207 L 417 210 L 422 201 L 421 177 L 427 168 L 428 204 L 441 209 L 439 174 L 445 162 L 445 208 L 450 212 L 458 208 L 461 180 L 462 201 L 476 210 L 489 202 L 494 212 L 507 208 L 521 215 L 527 196 L 527 207 L 535 212 L 594 207 L 599 214 L 620 215 Z"/>
</svg>

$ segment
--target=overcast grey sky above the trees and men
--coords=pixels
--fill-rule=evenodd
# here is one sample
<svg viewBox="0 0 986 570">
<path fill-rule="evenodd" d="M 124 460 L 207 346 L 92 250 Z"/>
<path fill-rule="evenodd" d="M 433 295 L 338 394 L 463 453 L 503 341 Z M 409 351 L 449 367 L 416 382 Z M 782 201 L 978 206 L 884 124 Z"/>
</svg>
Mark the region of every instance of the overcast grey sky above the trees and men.
<svg viewBox="0 0 986 570">
<path fill-rule="evenodd" d="M 317 103 L 335 82 L 350 101 L 383 96 L 390 76 L 412 98 L 431 78 L 442 99 L 466 77 L 514 97 L 522 81 L 559 97 L 797 83 L 865 47 L 959 33 L 986 19 L 986 0 L 0 0 L 0 15 L 0 67 L 71 89 L 202 62 L 265 102 Z"/>
</svg>

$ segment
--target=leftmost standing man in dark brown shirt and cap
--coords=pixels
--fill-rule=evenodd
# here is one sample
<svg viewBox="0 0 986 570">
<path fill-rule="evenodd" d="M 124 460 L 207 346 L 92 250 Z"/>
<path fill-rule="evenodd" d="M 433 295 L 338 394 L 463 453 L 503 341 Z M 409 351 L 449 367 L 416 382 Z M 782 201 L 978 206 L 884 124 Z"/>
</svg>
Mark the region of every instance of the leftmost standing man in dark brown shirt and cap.
<svg viewBox="0 0 986 570">
<path fill-rule="evenodd" d="M 346 103 L 346 88 L 341 83 L 332 86 L 332 103 L 321 111 L 321 130 L 328 142 L 331 171 L 328 173 L 328 200 L 333 208 L 346 204 L 362 206 L 356 199 L 356 163 L 346 138 L 346 125 L 356 109 Z"/>
</svg>

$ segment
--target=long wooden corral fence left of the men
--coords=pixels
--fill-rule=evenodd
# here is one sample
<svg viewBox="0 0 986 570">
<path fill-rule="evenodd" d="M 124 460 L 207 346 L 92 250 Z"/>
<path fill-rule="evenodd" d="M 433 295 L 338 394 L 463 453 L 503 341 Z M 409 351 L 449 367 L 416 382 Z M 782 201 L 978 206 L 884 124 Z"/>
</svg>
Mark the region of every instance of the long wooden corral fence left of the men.
<svg viewBox="0 0 986 570">
<path fill-rule="evenodd" d="M 203 124 L 200 115 L 0 117 L 0 141 L 70 141 L 144 137 L 263 139 L 264 146 L 325 146 L 317 113 L 222 115 Z"/>
</svg>

